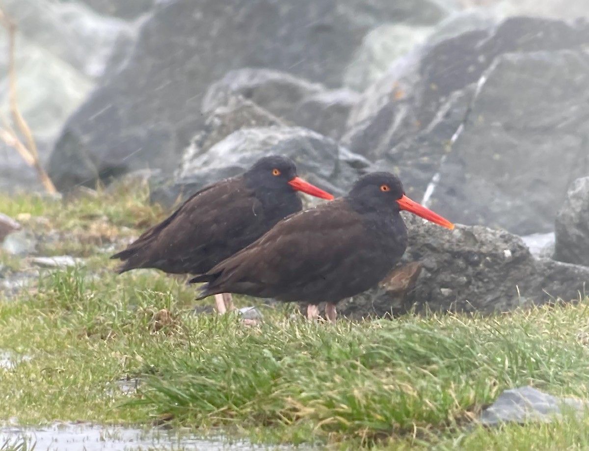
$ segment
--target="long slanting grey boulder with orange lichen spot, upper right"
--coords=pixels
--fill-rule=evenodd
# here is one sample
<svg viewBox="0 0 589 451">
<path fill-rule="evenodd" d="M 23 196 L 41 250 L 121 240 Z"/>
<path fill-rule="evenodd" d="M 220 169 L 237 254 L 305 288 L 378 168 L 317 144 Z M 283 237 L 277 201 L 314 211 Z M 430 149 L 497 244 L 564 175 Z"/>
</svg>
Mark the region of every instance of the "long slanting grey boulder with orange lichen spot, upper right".
<svg viewBox="0 0 589 451">
<path fill-rule="evenodd" d="M 425 45 L 395 61 L 366 90 L 350 112 L 343 141 L 353 143 L 352 150 L 369 141 L 365 148 L 381 157 L 402 138 L 428 128 L 449 96 L 478 83 L 498 55 L 581 48 L 588 41 L 588 26 L 518 17 Z"/>
</svg>

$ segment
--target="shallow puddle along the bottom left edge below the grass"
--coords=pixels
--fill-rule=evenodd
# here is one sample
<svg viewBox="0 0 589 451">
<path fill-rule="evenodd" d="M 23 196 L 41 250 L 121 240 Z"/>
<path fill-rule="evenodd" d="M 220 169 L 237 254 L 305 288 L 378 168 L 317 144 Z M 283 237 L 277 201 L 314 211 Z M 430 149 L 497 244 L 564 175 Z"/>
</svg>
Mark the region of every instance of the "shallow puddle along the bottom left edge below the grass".
<svg viewBox="0 0 589 451">
<path fill-rule="evenodd" d="M 228 440 L 198 439 L 177 432 L 163 430 L 145 432 L 141 429 L 120 426 L 56 424 L 38 429 L 26 427 L 0 429 L 0 448 L 5 443 L 16 448 L 16 445 L 24 440 L 27 445 L 22 449 L 27 451 L 32 449 L 35 451 L 262 451 L 271 449 L 304 451 L 302 447 L 259 446 L 247 442 L 230 443 Z"/>
</svg>

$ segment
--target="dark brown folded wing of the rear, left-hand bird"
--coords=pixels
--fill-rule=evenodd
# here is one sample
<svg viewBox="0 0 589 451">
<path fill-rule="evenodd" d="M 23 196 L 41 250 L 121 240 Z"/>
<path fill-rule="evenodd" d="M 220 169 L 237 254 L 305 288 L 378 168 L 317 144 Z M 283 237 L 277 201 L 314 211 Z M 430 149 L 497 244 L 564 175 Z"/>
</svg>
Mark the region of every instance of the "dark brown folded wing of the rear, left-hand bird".
<svg viewBox="0 0 589 451">
<path fill-rule="evenodd" d="M 145 231 L 111 258 L 126 260 L 119 272 L 157 268 L 167 273 L 200 274 L 260 237 L 262 204 L 241 177 L 192 195 L 160 224 Z"/>
</svg>

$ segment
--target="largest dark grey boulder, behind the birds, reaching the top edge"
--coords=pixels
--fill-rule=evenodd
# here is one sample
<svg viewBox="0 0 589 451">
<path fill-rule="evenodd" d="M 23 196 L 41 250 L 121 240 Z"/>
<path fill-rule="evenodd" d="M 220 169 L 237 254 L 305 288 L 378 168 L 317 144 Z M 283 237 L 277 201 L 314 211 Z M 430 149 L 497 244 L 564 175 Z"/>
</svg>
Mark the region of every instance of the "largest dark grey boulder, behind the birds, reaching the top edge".
<svg viewBox="0 0 589 451">
<path fill-rule="evenodd" d="M 60 190 L 145 167 L 174 170 L 202 125 L 207 87 L 266 67 L 339 87 L 350 55 L 383 22 L 429 25 L 437 0 L 170 0 L 143 23 L 126 64 L 68 120 L 49 173 Z"/>
</svg>

